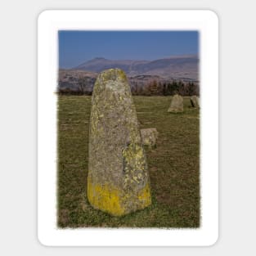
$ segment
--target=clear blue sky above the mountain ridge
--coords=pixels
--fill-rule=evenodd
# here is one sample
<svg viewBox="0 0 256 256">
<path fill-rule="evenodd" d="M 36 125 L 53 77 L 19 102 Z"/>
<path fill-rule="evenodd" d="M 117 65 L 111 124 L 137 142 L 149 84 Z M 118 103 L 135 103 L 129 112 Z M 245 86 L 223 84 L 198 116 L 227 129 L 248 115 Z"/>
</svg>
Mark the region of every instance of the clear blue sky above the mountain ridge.
<svg viewBox="0 0 256 256">
<path fill-rule="evenodd" d="M 196 31 L 59 31 L 61 68 L 72 68 L 96 57 L 155 60 L 198 53 Z"/>
</svg>

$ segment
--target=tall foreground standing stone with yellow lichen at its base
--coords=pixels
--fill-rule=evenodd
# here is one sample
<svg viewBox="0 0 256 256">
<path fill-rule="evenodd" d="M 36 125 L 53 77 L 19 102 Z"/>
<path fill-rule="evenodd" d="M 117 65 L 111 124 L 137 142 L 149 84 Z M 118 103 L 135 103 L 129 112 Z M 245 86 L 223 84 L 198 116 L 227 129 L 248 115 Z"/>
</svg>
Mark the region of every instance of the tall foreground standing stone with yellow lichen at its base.
<svg viewBox="0 0 256 256">
<path fill-rule="evenodd" d="M 115 216 L 151 204 L 146 155 L 124 71 L 99 74 L 92 94 L 88 200 Z"/>
</svg>

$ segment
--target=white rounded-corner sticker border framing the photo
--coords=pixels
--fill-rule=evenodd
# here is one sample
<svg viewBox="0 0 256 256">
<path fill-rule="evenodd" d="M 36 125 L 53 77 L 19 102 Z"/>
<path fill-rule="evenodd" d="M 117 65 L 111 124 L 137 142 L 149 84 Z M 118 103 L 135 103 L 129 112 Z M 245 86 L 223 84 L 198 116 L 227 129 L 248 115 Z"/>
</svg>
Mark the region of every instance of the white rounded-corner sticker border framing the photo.
<svg viewBox="0 0 256 256">
<path fill-rule="evenodd" d="M 155 20 L 152 20 L 154 16 Z M 131 20 L 132 17 L 132 20 Z M 116 24 L 119 20 L 119 24 Z M 200 34 L 200 228 L 56 229 L 57 33 L 60 29 Z M 47 87 L 45 86 L 47 84 Z M 47 103 L 46 103 L 47 101 Z M 218 239 L 218 17 L 213 11 L 43 11 L 38 18 L 38 239 L 43 245 L 213 245 Z"/>
</svg>

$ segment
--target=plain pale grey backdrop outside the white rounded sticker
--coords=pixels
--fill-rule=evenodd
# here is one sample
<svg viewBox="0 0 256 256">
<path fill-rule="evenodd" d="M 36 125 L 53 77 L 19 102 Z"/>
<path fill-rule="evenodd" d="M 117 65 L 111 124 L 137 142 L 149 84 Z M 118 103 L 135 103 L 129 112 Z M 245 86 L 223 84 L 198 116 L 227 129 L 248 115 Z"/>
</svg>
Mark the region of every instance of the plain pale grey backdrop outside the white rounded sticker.
<svg viewBox="0 0 256 256">
<path fill-rule="evenodd" d="M 37 16 L 45 9 L 212 9 L 220 24 L 220 227 L 211 247 L 50 248 L 37 240 Z M 1 178 L 3 255 L 254 255 L 255 29 L 254 1 L 6 1 L 0 9 Z"/>
</svg>

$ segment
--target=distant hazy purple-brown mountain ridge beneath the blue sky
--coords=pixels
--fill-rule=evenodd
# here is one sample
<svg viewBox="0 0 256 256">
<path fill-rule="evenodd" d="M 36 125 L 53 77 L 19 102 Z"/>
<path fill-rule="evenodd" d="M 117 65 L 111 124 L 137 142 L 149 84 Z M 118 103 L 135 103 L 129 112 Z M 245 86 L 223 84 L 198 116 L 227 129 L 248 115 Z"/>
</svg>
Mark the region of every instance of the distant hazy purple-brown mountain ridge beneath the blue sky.
<svg viewBox="0 0 256 256">
<path fill-rule="evenodd" d="M 108 60 L 95 58 L 72 70 L 87 70 L 99 73 L 102 70 L 119 68 L 128 76 L 159 75 L 163 78 L 198 80 L 198 56 L 170 56 L 155 61 Z"/>
</svg>

